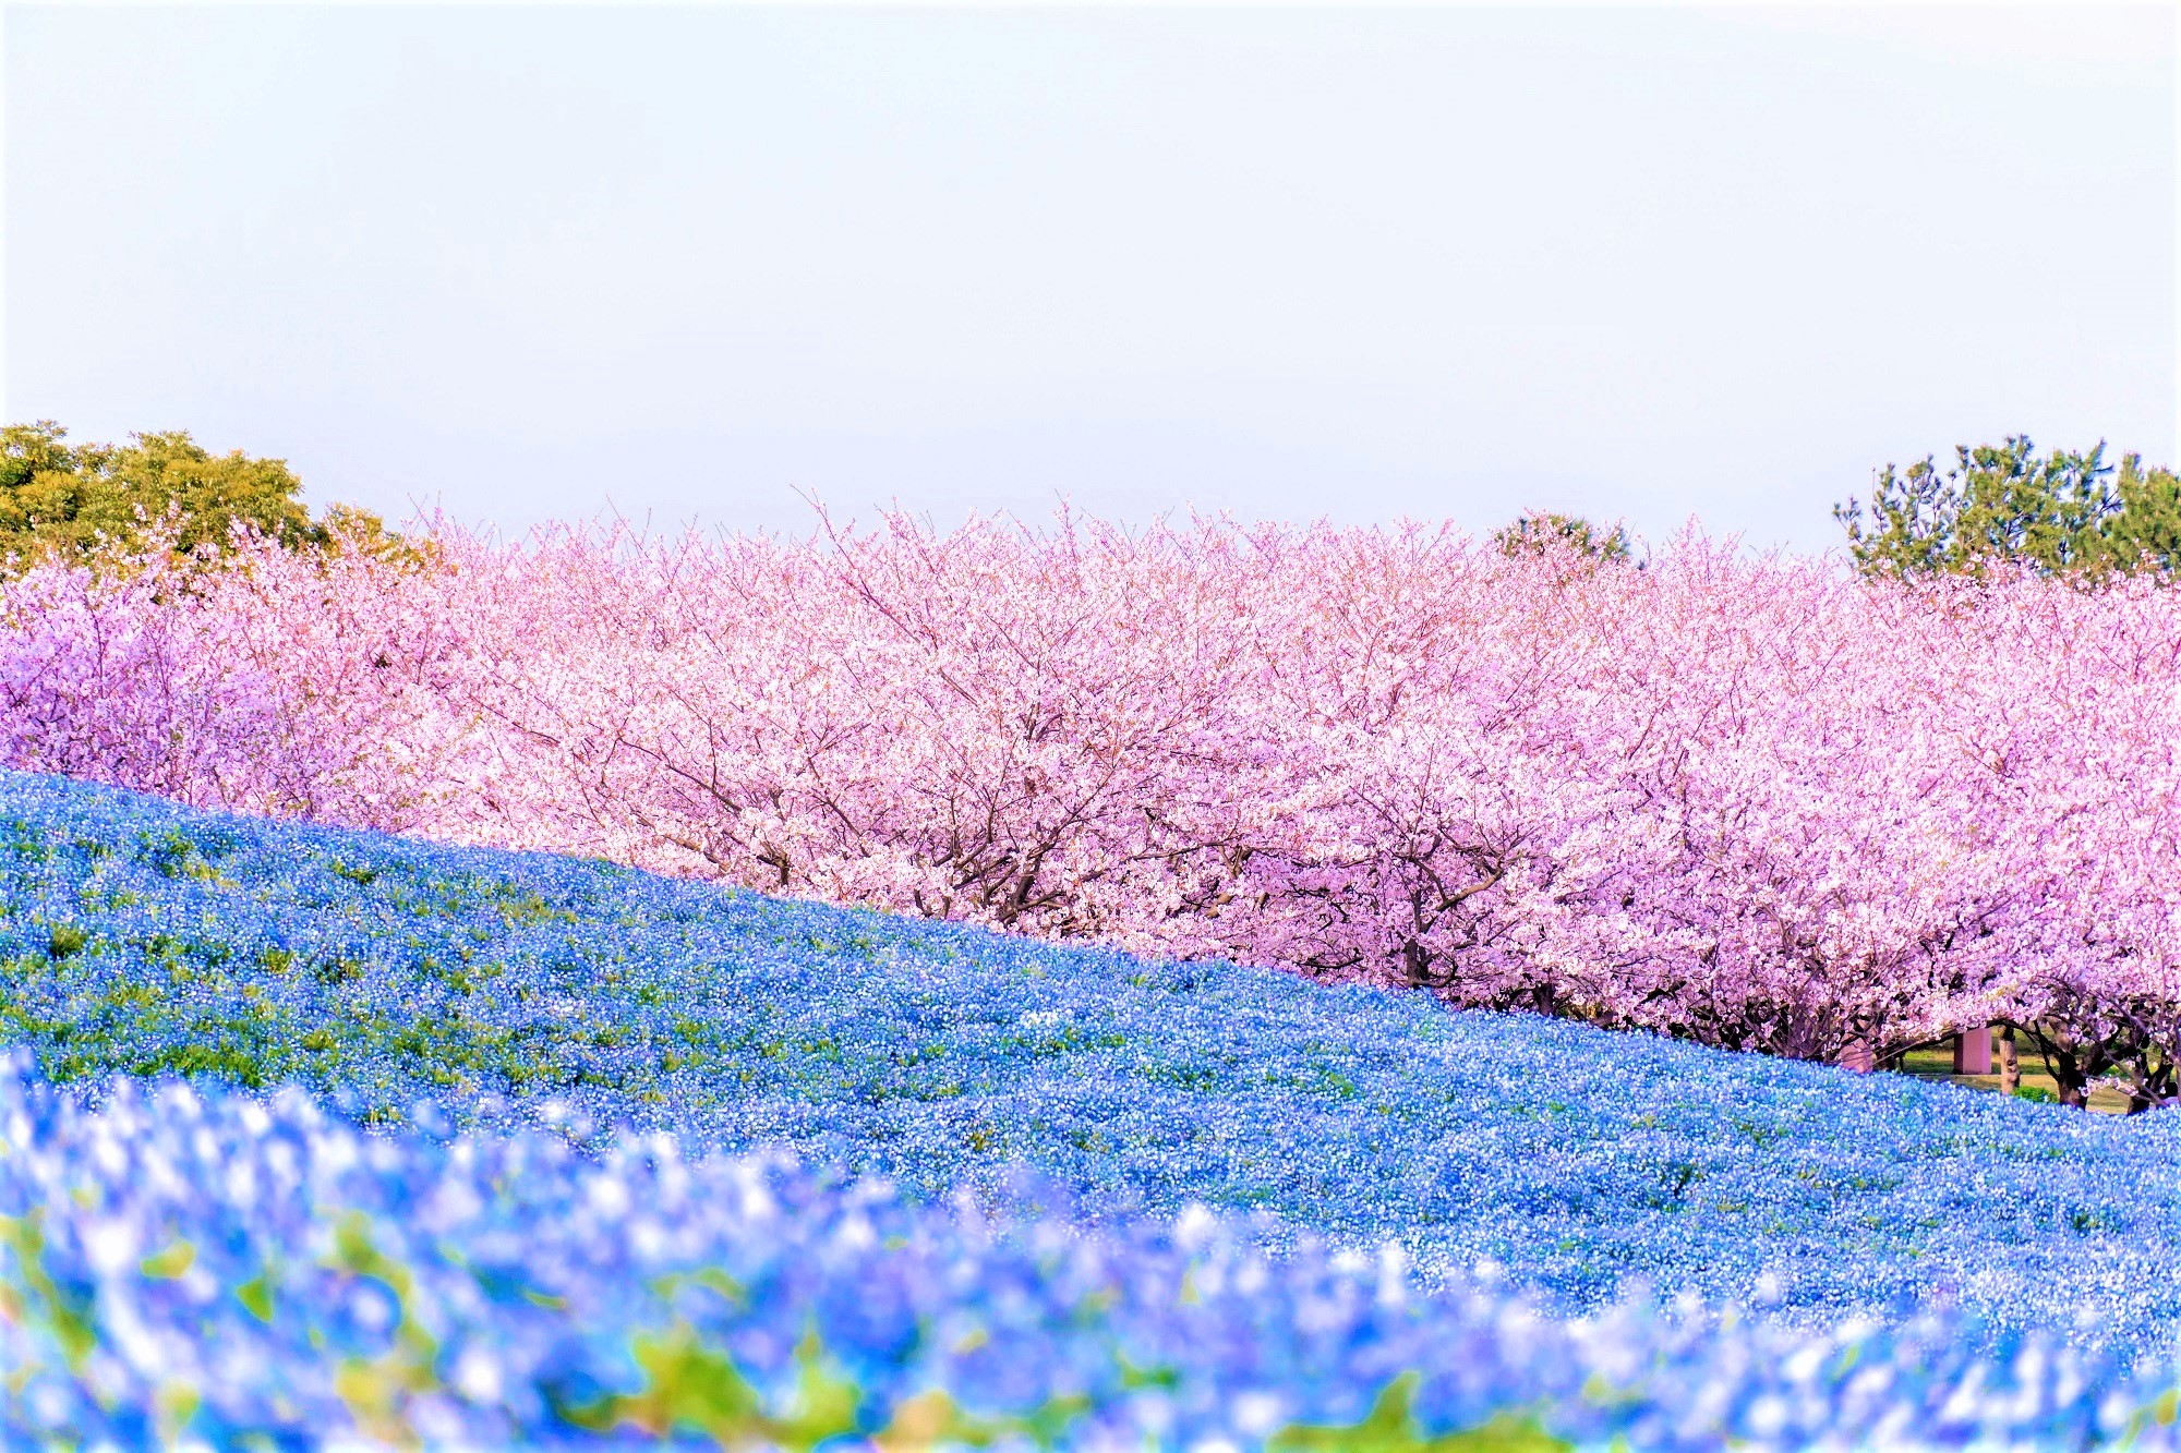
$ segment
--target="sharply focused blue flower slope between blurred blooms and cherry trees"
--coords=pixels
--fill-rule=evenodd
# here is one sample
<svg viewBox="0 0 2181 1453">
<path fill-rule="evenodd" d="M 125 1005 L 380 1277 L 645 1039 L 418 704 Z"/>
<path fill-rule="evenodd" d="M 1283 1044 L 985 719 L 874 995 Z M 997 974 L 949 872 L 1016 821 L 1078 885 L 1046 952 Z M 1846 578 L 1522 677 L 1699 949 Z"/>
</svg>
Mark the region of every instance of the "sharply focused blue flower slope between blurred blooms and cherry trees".
<svg viewBox="0 0 2181 1453">
<path fill-rule="evenodd" d="M 1636 1289 L 1668 1311 L 1688 1294 L 1808 1331 L 1954 1309 L 1950 1335 L 1976 1348 L 2044 1335 L 2116 1366 L 2159 1364 L 2177 1333 L 2164 1289 L 2181 1270 L 2181 1121 L 2157 1115 L 2083 1117 L 1450 1012 L 1429 995 L 225 818 L 59 779 L 0 777 L 0 1030 L 41 1076 L 94 1104 L 122 1076 L 268 1104 L 294 1084 L 379 1137 L 550 1132 L 493 1154 L 561 1185 L 554 1215 L 630 1257 L 683 1254 L 676 1222 L 654 1215 L 670 1172 L 646 1189 L 585 1182 L 580 1200 L 561 1178 L 574 1158 L 667 1134 L 674 1176 L 711 1154 L 785 1150 L 811 1174 L 885 1178 L 918 1204 L 1005 1200 L 1029 1167 L 1040 1196 L 1064 1196 L 1049 1209 L 1069 1224 L 1202 1204 L 1245 1217 L 1274 1254 L 1359 1252 L 1365 1278 L 1398 1241 L 1415 1287 L 1498 1278 L 1555 1316 Z M 55 953 L 57 925 L 81 942 Z M 281 949 L 251 947 L 275 929 Z M 406 1154 L 364 1139 L 303 1156 L 266 1128 L 251 1132 L 262 1152 L 227 1163 L 85 1134 L 100 1176 L 126 1165 L 229 1217 L 312 1176 L 379 1174 L 386 1156 L 397 1174 Z M 451 1176 L 406 1224 L 462 1222 L 469 1198 L 504 1196 L 486 1185 Z M 737 1196 L 757 1215 L 770 1191 Z M 578 1254 L 517 1233 L 480 1246 L 497 1265 Z M 866 1320 L 842 1311 L 840 1335 L 899 1340 L 890 1305 L 872 1294 Z M 369 1318 L 384 1311 L 353 1302 L 342 1335 L 377 1335 Z M 1361 1313 L 1335 1298 L 1298 1316 L 1337 1337 Z M 964 1377 L 1016 1377 L 977 1361 L 1001 1326 L 984 1326 L 986 1342 L 964 1326 Z"/>
</svg>

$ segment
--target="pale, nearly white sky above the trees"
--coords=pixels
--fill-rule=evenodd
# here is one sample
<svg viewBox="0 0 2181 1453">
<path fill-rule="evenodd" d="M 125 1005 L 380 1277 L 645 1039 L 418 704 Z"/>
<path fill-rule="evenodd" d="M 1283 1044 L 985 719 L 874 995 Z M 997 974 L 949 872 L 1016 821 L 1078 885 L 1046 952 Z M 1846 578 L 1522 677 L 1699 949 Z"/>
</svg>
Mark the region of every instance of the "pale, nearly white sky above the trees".
<svg viewBox="0 0 2181 1453">
<path fill-rule="evenodd" d="M 2170 7 L 4 9 L 7 421 L 526 530 L 2177 447 Z"/>
</svg>

